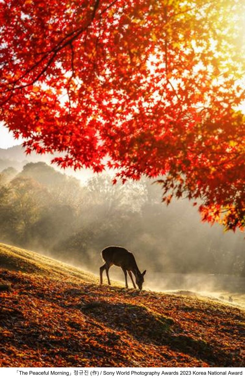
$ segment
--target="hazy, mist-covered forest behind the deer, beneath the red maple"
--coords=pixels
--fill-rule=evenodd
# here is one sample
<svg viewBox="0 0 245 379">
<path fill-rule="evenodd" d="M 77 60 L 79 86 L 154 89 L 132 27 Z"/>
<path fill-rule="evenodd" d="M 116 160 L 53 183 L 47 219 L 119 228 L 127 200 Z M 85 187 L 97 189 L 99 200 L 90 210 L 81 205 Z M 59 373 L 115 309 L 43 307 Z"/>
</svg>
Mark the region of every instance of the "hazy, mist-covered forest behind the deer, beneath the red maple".
<svg viewBox="0 0 245 379">
<path fill-rule="evenodd" d="M 149 274 L 245 275 L 243 233 L 200 223 L 187 199 L 169 207 L 160 201 L 160 186 L 147 178 L 112 185 L 109 174 L 98 174 L 81 184 L 45 162 L 27 163 L 19 172 L 6 167 L 0 174 L 0 240 L 96 274 L 99 252 L 116 244 L 133 251 Z"/>
</svg>

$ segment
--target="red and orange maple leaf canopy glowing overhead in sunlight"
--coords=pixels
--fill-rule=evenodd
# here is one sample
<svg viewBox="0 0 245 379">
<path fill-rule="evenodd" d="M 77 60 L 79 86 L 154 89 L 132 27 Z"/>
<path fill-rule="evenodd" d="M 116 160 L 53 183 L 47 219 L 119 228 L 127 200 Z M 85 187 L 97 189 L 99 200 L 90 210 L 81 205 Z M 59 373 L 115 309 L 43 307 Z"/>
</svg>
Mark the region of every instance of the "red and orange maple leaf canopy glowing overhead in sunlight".
<svg viewBox="0 0 245 379">
<path fill-rule="evenodd" d="M 62 167 L 245 226 L 243 0 L 0 2 L 0 120 Z M 200 203 L 201 199 L 201 203 Z"/>
</svg>

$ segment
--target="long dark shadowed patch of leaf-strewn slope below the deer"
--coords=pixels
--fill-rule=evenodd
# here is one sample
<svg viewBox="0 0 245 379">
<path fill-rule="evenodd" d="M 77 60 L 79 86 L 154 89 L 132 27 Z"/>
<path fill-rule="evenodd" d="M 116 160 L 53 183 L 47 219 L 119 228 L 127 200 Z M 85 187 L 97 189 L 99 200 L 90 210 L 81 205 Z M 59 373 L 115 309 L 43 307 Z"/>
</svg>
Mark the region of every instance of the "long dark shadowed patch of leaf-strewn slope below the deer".
<svg viewBox="0 0 245 379">
<path fill-rule="evenodd" d="M 150 312 L 142 305 L 101 301 L 82 307 L 96 321 L 118 331 L 126 331 L 141 343 L 169 346 L 172 350 L 202 359 L 209 365 L 233 366 L 231 354 L 217 354 L 202 338 L 195 339 L 185 333 L 174 319 Z"/>
</svg>

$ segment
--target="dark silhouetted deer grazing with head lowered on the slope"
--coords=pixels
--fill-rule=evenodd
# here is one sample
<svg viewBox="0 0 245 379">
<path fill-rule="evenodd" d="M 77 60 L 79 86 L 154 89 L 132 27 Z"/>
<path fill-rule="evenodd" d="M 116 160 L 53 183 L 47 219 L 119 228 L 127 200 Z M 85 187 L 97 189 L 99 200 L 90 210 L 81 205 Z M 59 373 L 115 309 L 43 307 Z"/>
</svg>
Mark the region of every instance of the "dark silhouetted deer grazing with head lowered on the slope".
<svg viewBox="0 0 245 379">
<path fill-rule="evenodd" d="M 110 285 L 109 278 L 109 268 L 110 266 L 119 266 L 122 268 L 125 275 L 125 286 L 128 288 L 127 283 L 127 272 L 129 273 L 130 279 L 132 280 L 133 287 L 136 288 L 135 282 L 133 281 L 132 273 L 135 275 L 135 281 L 140 290 L 142 290 L 142 284 L 144 282 L 144 274 L 146 270 L 141 274 L 140 270 L 135 261 L 135 257 L 130 251 L 124 249 L 120 246 L 108 246 L 101 252 L 102 258 L 105 261 L 105 264 L 99 269 L 101 284 L 103 283 L 103 271 L 105 270 L 107 275 L 108 284 Z"/>
</svg>

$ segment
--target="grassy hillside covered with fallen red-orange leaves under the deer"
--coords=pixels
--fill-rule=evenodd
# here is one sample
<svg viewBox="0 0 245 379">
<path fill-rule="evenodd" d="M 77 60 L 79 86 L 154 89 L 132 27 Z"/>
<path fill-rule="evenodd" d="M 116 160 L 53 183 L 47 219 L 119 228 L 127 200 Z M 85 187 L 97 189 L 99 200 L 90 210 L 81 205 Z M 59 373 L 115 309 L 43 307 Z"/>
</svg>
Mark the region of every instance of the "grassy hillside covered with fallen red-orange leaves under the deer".
<svg viewBox="0 0 245 379">
<path fill-rule="evenodd" d="M 8 283 L 9 288 L 1 288 Z M 0 244 L 0 366 L 244 366 L 245 312 Z"/>
</svg>

